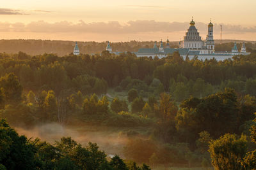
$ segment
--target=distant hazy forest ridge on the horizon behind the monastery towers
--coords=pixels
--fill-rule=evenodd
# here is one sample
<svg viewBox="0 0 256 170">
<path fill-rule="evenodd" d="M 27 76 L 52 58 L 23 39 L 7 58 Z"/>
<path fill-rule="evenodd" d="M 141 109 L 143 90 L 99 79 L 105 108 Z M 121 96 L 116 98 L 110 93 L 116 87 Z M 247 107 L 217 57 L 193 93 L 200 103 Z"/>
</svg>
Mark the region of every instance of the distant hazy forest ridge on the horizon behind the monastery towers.
<svg viewBox="0 0 256 170">
<path fill-rule="evenodd" d="M 108 39 L 106 39 L 107 41 Z M 160 40 L 160 39 L 159 39 Z M 81 53 L 101 53 L 106 49 L 107 43 L 105 42 L 77 42 Z M 216 51 L 231 51 L 234 46 L 234 42 L 237 43 L 237 48 L 241 49 L 243 42 L 246 43 L 248 52 L 252 52 L 252 49 L 256 48 L 255 41 L 241 41 L 241 40 L 215 40 Z M 164 46 L 165 46 L 165 42 Z M 140 48 L 152 48 L 154 41 L 129 41 L 129 42 L 116 42 L 110 43 L 114 52 L 138 52 Z M 159 45 L 159 42 L 158 42 Z M 59 56 L 68 55 L 73 52 L 75 46 L 74 41 L 51 41 L 40 39 L 1 39 L 0 40 L 0 52 L 2 53 L 18 53 L 19 51 L 28 53 L 29 55 L 40 55 L 42 53 L 55 53 Z M 177 48 L 179 41 L 171 41 L 171 48 Z"/>
</svg>

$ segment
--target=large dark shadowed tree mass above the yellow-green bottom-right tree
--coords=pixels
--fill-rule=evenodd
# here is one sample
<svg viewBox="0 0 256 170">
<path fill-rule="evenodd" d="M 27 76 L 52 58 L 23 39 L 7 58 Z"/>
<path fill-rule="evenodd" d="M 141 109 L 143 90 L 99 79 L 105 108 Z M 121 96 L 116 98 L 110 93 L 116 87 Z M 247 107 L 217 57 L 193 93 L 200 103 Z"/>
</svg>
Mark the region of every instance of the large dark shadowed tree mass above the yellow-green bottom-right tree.
<svg viewBox="0 0 256 170">
<path fill-rule="evenodd" d="M 202 131 L 209 132 L 214 138 L 227 132 L 237 132 L 240 108 L 237 104 L 236 92 L 232 89 L 203 99 L 190 98 L 180 104 L 175 117 L 177 130 L 180 134 L 184 132 L 184 138 L 191 141 L 196 140 Z"/>
</svg>

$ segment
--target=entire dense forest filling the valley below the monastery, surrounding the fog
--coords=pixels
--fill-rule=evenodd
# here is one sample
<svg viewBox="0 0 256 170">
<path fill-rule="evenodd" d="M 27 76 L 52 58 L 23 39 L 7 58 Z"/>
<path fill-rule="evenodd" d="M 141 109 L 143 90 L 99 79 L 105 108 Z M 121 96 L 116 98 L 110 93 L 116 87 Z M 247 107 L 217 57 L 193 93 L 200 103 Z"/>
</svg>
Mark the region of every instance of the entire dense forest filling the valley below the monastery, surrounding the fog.
<svg viewBox="0 0 256 170">
<path fill-rule="evenodd" d="M 0 117 L 10 126 L 91 125 L 127 137 L 122 157 L 106 159 L 94 143 L 27 139 L 2 120 L 0 166 L 21 167 L 28 155 L 38 169 L 256 168 L 256 51 L 250 50 L 219 62 L 184 60 L 178 52 L 163 59 L 0 53 Z"/>
</svg>

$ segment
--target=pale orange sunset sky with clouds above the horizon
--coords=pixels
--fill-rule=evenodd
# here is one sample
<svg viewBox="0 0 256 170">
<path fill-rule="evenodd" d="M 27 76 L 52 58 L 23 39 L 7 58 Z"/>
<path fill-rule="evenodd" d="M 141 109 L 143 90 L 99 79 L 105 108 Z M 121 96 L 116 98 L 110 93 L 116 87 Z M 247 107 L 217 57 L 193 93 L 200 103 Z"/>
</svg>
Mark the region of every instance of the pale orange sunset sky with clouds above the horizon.
<svg viewBox="0 0 256 170">
<path fill-rule="evenodd" d="M 1 0 L 1 39 L 139 41 L 182 39 L 193 16 L 205 39 L 256 40 L 255 0 Z"/>
</svg>

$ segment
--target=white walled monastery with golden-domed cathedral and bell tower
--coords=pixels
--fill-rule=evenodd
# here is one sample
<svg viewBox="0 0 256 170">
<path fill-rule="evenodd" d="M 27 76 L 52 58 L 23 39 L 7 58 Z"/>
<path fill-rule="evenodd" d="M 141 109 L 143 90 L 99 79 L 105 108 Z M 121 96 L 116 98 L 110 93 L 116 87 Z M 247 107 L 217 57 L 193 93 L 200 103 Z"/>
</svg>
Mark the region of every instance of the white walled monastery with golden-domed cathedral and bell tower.
<svg viewBox="0 0 256 170">
<path fill-rule="evenodd" d="M 225 60 L 232 58 L 234 55 L 250 54 L 246 52 L 244 43 L 240 52 L 238 52 L 237 50 L 236 43 L 234 43 L 234 48 L 232 48 L 231 52 L 215 52 L 212 22 L 208 24 L 208 34 L 205 41 L 203 41 L 195 27 L 195 21 L 192 19 L 188 32 L 186 32 L 186 36 L 184 36 L 184 40 L 180 41 L 179 48 L 170 48 L 169 40 L 167 39 L 166 48 L 163 47 L 162 41 L 160 41 L 160 46 L 159 48 L 157 48 L 157 44 L 155 41 L 154 48 L 140 48 L 136 55 L 138 57 L 157 56 L 159 58 L 163 58 L 168 56 L 169 54 L 172 54 L 175 51 L 179 51 L 180 55 L 184 59 L 187 56 L 189 57 L 189 59 L 193 59 L 193 57 L 196 56 L 200 60 L 213 58 L 215 58 L 216 60 Z"/>
</svg>

